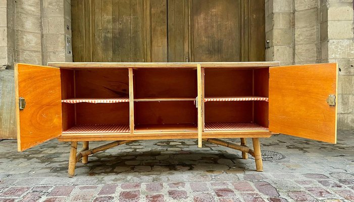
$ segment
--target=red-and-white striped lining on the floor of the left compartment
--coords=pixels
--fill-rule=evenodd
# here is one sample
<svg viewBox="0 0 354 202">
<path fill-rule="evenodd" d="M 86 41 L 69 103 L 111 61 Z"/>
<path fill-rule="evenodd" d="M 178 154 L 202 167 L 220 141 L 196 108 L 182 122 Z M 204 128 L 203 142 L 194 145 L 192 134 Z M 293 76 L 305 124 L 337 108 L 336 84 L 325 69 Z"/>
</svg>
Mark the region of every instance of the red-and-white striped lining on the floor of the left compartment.
<svg viewBox="0 0 354 202">
<path fill-rule="evenodd" d="M 129 125 L 78 125 L 72 127 L 66 131 L 63 131 L 63 134 L 70 133 L 128 133 Z"/>
</svg>

